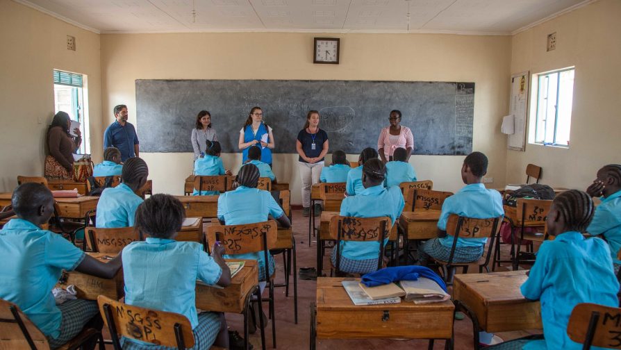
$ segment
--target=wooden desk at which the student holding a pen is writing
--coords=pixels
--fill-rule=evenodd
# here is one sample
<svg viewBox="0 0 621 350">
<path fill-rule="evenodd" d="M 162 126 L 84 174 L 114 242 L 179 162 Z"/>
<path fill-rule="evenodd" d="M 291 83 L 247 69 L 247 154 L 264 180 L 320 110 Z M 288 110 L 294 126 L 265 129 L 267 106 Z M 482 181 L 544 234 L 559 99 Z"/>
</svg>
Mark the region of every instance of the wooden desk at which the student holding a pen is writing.
<svg viewBox="0 0 621 350">
<path fill-rule="evenodd" d="M 240 261 L 226 259 L 226 261 Z M 220 313 L 242 313 L 248 293 L 258 285 L 258 263 L 244 260 L 242 270 L 231 279 L 231 285 L 223 289 L 197 284 L 196 307 Z"/>
</svg>

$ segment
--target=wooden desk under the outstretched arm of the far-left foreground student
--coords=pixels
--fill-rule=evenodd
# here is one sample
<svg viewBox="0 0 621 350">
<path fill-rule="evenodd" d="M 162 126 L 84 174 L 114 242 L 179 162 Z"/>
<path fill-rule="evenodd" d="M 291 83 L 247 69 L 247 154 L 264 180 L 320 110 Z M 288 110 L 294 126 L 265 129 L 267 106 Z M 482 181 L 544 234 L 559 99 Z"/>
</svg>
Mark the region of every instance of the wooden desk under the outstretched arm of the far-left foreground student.
<svg viewBox="0 0 621 350">
<path fill-rule="evenodd" d="M 108 263 L 110 259 L 103 258 L 108 256 L 114 258 L 115 254 L 111 253 L 87 253 L 99 261 Z M 113 278 L 95 277 L 89 274 L 83 274 L 77 271 L 63 272 L 60 280 L 56 284 L 58 288 L 67 288 L 67 285 L 75 285 L 78 292 L 78 299 L 97 300 L 99 295 L 105 295 L 110 299 L 119 300 L 124 295 L 123 269 L 119 269 Z"/>
</svg>

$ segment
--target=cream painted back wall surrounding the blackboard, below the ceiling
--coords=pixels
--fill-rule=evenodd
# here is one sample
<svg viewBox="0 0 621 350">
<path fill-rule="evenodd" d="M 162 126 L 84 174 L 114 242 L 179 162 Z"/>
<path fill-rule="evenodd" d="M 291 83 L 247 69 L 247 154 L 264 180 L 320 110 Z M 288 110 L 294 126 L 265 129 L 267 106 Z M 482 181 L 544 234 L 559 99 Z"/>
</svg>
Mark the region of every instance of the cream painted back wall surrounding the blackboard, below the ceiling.
<svg viewBox="0 0 621 350">
<path fill-rule="evenodd" d="M 104 128 L 111 110 L 129 107 L 135 124 L 136 79 L 342 79 L 388 81 L 474 81 L 473 148 L 490 158 L 492 186 L 505 180 L 505 138 L 500 118 L 508 109 L 511 38 L 506 36 L 341 34 L 340 65 L 314 65 L 312 33 L 182 33 L 101 35 Z M 209 109 L 209 106 L 205 106 Z M 395 106 L 394 108 L 399 108 Z M 378 117 L 388 117 L 386 115 Z M 194 118 L 188 115 L 188 118 Z M 214 115 L 217 124 L 219 116 Z M 244 122 L 240 120 L 240 126 Z M 304 120 L 300 120 L 300 127 Z M 387 121 L 388 122 L 388 121 Z M 410 125 L 415 128 L 415 125 Z M 103 133 L 103 128 L 101 133 Z M 138 130 L 138 135 L 148 133 Z M 379 130 L 370 138 L 377 138 Z M 278 142 L 278 135 L 274 135 Z M 189 135 L 188 135 L 188 142 Z M 416 142 L 416 140 L 415 140 Z M 192 171 L 190 153 L 141 153 L 155 192 L 181 194 Z M 420 178 L 438 190 L 461 188 L 463 156 L 413 156 Z M 225 154 L 236 172 L 240 156 Z M 357 160 L 356 155 L 350 156 Z M 278 154 L 274 172 L 290 183 L 292 203 L 301 203 L 297 155 Z"/>
</svg>

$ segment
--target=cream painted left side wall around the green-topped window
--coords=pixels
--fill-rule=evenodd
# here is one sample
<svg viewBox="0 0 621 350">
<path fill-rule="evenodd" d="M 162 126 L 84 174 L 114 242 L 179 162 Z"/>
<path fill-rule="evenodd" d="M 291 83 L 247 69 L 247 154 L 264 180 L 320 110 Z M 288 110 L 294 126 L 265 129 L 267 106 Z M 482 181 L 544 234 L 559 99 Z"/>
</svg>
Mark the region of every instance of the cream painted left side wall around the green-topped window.
<svg viewBox="0 0 621 350">
<path fill-rule="evenodd" d="M 76 38 L 76 51 L 67 50 L 66 35 Z M 101 158 L 99 35 L 0 0 L 0 45 L 0 191 L 13 190 L 17 175 L 43 176 L 54 68 L 88 76 L 92 153 Z"/>
</svg>

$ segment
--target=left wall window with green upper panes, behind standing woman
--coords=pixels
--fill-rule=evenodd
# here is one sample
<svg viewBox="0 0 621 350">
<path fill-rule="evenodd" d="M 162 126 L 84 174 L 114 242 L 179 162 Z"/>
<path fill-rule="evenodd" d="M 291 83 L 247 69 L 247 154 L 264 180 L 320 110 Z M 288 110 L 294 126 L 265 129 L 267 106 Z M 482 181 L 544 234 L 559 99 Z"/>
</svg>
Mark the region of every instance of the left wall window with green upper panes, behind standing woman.
<svg viewBox="0 0 621 350">
<path fill-rule="evenodd" d="M 85 78 L 82 74 L 63 72 L 54 69 L 54 113 L 67 112 L 72 120 L 80 123 L 82 144 L 78 153 L 90 154 L 90 135 L 88 127 L 88 108 L 85 104 Z"/>
</svg>

